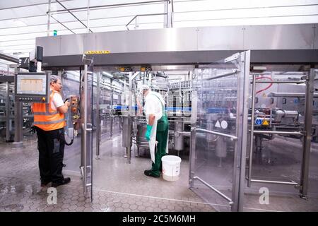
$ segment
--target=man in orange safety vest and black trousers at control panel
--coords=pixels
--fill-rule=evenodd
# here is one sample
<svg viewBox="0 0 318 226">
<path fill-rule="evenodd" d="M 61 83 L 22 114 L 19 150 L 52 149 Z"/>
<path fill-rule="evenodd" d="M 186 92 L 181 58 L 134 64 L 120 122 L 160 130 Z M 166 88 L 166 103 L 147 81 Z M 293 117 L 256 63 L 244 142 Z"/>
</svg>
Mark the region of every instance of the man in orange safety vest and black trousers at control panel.
<svg viewBox="0 0 318 226">
<path fill-rule="evenodd" d="M 53 187 L 68 184 L 71 179 L 62 174 L 64 157 L 64 114 L 71 105 L 61 97 L 61 79 L 51 76 L 49 103 L 33 103 L 34 126 L 37 131 L 41 186 L 52 182 Z"/>
</svg>

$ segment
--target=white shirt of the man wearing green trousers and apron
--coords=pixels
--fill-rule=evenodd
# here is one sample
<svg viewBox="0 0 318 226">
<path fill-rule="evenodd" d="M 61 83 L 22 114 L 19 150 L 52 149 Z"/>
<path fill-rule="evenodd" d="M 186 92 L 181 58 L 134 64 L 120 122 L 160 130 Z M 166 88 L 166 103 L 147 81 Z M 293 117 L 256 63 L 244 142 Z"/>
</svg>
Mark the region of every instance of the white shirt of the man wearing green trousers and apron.
<svg viewBox="0 0 318 226">
<path fill-rule="evenodd" d="M 159 100 L 160 99 L 160 100 Z M 165 101 L 160 93 L 156 93 L 150 91 L 148 95 L 145 97 L 145 106 L 143 107 L 143 111 L 146 114 L 146 119 L 148 122 L 149 114 L 155 114 L 155 120 L 159 120 L 163 116 L 163 107 L 165 105 Z"/>
</svg>

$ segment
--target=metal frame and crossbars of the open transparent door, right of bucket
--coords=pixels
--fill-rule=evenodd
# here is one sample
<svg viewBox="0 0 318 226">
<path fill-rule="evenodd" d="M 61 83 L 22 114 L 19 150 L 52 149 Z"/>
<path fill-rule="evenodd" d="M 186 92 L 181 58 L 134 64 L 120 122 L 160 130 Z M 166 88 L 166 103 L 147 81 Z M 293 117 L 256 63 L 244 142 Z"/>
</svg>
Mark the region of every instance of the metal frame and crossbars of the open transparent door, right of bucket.
<svg viewBox="0 0 318 226">
<path fill-rule="evenodd" d="M 249 104 L 249 64 L 250 64 L 250 51 L 241 52 L 232 55 L 227 58 L 228 61 L 240 60 L 242 68 L 235 70 L 231 74 L 237 73 L 237 118 L 236 118 L 236 136 L 230 136 L 228 134 L 218 133 L 216 131 L 208 131 L 205 129 L 196 129 L 196 115 L 197 115 L 197 92 L 192 93 L 192 119 L 191 119 L 191 144 L 190 144 L 190 164 L 189 164 L 189 187 L 192 188 L 194 179 L 199 180 L 208 188 L 216 191 L 217 194 L 229 201 L 232 211 L 243 210 L 243 198 L 245 189 L 245 164 L 246 164 L 246 152 L 247 152 L 247 133 L 248 133 L 248 104 Z M 227 61 L 225 59 L 225 62 Z M 221 78 L 228 76 L 224 74 L 215 78 Z M 192 171 L 194 166 L 194 156 L 196 152 L 196 131 L 204 131 L 206 133 L 214 133 L 219 136 L 227 136 L 233 140 L 237 140 L 235 143 L 235 156 L 233 162 L 233 180 L 232 180 L 232 198 L 229 198 L 218 189 L 214 188 L 203 179 L 197 177 L 195 172 Z"/>
</svg>

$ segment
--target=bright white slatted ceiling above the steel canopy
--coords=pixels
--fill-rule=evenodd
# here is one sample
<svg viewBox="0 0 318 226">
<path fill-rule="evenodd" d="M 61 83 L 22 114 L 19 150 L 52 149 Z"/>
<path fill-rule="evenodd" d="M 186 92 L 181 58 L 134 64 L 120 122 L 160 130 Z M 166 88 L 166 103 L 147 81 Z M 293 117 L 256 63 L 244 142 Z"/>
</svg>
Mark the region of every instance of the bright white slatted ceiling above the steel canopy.
<svg viewBox="0 0 318 226">
<path fill-rule="evenodd" d="M 219 25 L 267 25 L 318 23 L 317 0 L 170 0 L 172 27 Z M 35 37 L 87 32 L 88 0 L 0 0 L 0 52 L 28 57 L 35 48 Z M 173 4 L 172 4 L 173 3 Z M 91 32 L 163 28 L 164 1 L 155 0 L 89 0 Z M 112 6 L 113 5 L 113 6 Z M 65 8 L 77 10 L 60 11 Z M 56 12 L 59 11 L 59 12 Z M 136 15 L 130 25 L 127 23 Z M 0 61 L 0 70 L 6 61 Z"/>
</svg>

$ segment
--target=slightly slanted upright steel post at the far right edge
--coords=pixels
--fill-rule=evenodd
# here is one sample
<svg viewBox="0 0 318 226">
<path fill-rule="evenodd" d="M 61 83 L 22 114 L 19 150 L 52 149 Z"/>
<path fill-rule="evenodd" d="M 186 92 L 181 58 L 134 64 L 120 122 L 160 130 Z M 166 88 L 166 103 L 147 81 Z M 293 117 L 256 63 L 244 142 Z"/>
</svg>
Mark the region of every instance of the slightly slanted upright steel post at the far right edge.
<svg viewBox="0 0 318 226">
<path fill-rule="evenodd" d="M 305 136 L 302 141 L 302 173 L 300 177 L 301 196 L 307 198 L 308 177 L 310 165 L 310 145 L 312 140 L 312 101 L 314 95 L 314 77 L 316 76 L 315 69 L 310 69 L 306 83 L 306 104 L 305 104 Z"/>
</svg>

